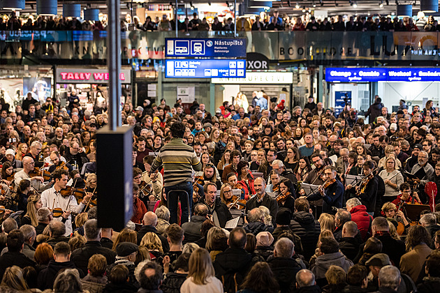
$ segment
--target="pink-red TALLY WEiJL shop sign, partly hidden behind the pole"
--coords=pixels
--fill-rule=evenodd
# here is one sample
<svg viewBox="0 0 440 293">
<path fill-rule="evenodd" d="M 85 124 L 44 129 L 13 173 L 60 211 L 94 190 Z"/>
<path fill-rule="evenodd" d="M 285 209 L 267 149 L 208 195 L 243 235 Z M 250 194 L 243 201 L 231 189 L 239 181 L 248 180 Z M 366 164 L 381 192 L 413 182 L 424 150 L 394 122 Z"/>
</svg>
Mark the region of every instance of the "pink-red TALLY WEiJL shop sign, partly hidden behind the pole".
<svg viewBox="0 0 440 293">
<path fill-rule="evenodd" d="M 58 84 L 106 84 L 109 79 L 105 69 L 57 68 Z M 122 84 L 131 83 L 130 70 L 120 70 L 119 79 Z"/>
</svg>

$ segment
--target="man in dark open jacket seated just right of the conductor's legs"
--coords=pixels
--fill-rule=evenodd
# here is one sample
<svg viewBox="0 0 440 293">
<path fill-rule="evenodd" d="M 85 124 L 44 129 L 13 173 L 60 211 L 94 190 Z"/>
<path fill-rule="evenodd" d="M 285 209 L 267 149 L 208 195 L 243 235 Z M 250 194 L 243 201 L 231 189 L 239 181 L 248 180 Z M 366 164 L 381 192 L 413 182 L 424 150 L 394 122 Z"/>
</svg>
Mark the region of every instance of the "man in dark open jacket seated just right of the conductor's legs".
<svg viewBox="0 0 440 293">
<path fill-rule="evenodd" d="M 232 215 L 226 204 L 221 202 L 220 197 L 217 197 L 217 185 L 212 182 L 207 182 L 203 187 L 205 197 L 200 198 L 199 203 L 205 204 L 208 209 L 208 215 L 212 215 L 212 221 L 217 227 L 224 228 L 228 220 L 232 220 Z"/>
</svg>

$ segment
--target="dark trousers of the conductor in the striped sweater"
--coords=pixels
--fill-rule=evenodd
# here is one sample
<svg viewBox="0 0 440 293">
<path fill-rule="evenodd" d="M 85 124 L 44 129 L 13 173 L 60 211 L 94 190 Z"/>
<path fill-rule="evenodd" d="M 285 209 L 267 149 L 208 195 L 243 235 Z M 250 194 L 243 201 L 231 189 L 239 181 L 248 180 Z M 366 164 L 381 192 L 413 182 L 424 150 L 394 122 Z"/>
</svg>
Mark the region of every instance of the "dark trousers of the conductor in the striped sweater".
<svg viewBox="0 0 440 293">
<path fill-rule="evenodd" d="M 185 193 L 173 192 L 170 193 L 171 190 L 185 190 L 188 193 L 188 197 L 186 197 Z M 170 224 L 176 223 L 178 218 L 178 210 L 179 210 L 179 199 L 182 207 L 182 219 L 180 221 L 181 224 L 188 222 L 189 213 L 191 213 L 191 205 L 193 202 L 193 183 L 184 182 L 177 184 L 175 186 L 166 186 L 165 193 L 167 195 L 168 209 L 170 210 Z M 170 194 L 169 194 L 170 193 Z M 188 200 L 189 200 L 189 210 L 188 210 Z"/>
</svg>

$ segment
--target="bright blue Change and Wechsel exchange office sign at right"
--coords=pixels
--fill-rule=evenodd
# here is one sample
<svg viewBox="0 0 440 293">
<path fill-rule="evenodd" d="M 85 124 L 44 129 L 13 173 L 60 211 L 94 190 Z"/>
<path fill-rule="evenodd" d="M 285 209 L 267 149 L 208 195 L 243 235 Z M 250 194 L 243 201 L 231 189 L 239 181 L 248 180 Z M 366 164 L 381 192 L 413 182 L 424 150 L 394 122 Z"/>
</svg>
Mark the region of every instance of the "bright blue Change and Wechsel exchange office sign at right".
<svg viewBox="0 0 440 293">
<path fill-rule="evenodd" d="M 438 82 L 439 68 L 325 68 L 327 82 Z"/>
</svg>

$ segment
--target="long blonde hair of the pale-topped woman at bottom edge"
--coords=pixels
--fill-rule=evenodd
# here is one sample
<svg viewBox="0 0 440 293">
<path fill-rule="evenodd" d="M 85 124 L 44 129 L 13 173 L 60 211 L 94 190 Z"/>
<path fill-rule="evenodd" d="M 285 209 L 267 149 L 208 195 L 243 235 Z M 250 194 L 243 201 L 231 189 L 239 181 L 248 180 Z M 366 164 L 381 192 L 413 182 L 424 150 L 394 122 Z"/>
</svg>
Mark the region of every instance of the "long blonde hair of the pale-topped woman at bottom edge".
<svg viewBox="0 0 440 293">
<path fill-rule="evenodd" d="M 196 285 L 205 285 L 207 278 L 214 276 L 214 266 L 210 253 L 205 248 L 198 248 L 189 257 L 189 273 L 187 278 Z"/>
</svg>

